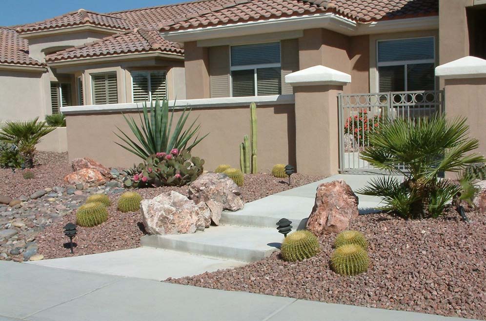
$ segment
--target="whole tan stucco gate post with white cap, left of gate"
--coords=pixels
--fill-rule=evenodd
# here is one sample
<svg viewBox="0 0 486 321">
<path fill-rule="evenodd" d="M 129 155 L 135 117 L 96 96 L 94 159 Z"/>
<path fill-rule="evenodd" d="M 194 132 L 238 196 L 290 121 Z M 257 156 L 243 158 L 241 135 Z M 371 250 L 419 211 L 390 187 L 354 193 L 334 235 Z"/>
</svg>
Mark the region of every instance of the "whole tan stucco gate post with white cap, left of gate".
<svg viewBox="0 0 486 321">
<path fill-rule="evenodd" d="M 285 76 L 295 95 L 297 171 L 334 175 L 339 169 L 338 94 L 351 76 L 317 65 Z"/>
</svg>

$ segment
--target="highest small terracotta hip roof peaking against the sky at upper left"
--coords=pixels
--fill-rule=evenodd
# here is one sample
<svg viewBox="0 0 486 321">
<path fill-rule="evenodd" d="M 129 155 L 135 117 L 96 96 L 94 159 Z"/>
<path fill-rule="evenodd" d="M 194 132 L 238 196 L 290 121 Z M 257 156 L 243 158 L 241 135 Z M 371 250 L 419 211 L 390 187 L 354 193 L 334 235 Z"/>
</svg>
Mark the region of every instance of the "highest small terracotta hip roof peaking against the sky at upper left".
<svg viewBox="0 0 486 321">
<path fill-rule="evenodd" d="M 114 17 L 106 14 L 99 14 L 92 11 L 80 9 L 62 16 L 40 22 L 24 24 L 17 28 L 19 33 L 59 29 L 80 25 L 94 25 L 107 27 L 116 30 L 129 30 L 133 28 L 133 23 L 121 17 Z"/>
</svg>

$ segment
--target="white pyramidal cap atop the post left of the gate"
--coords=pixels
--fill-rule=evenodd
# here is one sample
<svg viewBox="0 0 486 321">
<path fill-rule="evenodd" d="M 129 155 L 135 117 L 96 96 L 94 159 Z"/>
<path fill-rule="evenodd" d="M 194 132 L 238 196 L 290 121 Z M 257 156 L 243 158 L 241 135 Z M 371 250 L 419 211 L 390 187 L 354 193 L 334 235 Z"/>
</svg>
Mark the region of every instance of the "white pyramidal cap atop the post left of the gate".
<svg viewBox="0 0 486 321">
<path fill-rule="evenodd" d="M 288 74 L 285 82 L 292 86 L 345 85 L 351 82 L 351 75 L 317 65 Z"/>
</svg>

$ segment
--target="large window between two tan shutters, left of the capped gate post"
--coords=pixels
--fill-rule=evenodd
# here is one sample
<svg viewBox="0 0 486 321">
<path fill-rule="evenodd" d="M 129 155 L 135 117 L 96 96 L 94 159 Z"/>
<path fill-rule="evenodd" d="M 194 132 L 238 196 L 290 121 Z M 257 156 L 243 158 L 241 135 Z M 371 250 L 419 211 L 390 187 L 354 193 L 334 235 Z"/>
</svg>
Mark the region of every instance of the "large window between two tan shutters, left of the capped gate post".
<svg viewBox="0 0 486 321">
<path fill-rule="evenodd" d="M 280 42 L 231 47 L 233 97 L 280 95 Z"/>
</svg>

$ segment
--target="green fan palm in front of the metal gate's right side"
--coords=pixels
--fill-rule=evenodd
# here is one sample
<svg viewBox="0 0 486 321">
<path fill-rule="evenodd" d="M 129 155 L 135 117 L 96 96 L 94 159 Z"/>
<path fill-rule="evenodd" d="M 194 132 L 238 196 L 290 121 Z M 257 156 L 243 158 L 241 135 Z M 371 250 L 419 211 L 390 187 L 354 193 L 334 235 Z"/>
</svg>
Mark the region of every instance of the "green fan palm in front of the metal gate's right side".
<svg viewBox="0 0 486 321">
<path fill-rule="evenodd" d="M 465 119 L 448 120 L 445 115 L 383 121 L 379 131 L 369 133 L 370 146 L 361 159 L 370 165 L 405 176 L 373 179 L 360 194 L 379 196 L 385 206 L 405 219 L 437 218 L 462 191 L 461 184 L 439 179 L 444 172 L 460 172 L 467 165 L 484 162 L 471 153 L 479 146 L 468 137 Z"/>
</svg>

